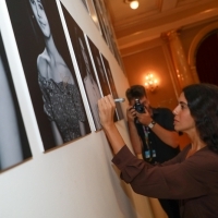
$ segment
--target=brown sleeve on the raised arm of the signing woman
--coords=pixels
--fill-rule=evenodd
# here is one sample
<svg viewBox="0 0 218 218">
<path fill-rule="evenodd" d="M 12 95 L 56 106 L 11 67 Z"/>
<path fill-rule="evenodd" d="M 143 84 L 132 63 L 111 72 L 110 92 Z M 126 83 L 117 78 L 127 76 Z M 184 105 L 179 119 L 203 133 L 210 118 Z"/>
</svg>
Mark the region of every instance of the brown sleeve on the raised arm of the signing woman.
<svg viewBox="0 0 218 218">
<path fill-rule="evenodd" d="M 134 192 L 145 196 L 185 199 L 208 192 L 193 160 L 180 161 L 180 157 L 175 157 L 164 165 L 152 166 L 137 159 L 124 146 L 112 161 L 121 170 L 121 179 L 130 183 Z"/>
</svg>

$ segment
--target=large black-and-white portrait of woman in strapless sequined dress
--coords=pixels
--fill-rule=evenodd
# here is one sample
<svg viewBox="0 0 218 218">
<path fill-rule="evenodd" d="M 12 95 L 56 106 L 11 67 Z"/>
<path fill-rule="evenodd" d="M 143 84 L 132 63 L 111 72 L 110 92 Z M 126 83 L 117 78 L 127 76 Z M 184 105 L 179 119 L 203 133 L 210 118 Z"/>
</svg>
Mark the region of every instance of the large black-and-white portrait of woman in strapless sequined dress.
<svg viewBox="0 0 218 218">
<path fill-rule="evenodd" d="M 90 133 L 55 0 L 7 0 L 45 150 Z"/>
</svg>

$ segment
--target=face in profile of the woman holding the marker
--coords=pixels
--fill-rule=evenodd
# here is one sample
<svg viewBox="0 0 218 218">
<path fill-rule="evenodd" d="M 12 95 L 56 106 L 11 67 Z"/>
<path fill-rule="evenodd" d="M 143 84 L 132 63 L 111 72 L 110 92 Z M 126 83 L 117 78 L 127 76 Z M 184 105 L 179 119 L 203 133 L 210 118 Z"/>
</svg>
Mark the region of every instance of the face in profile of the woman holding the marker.
<svg viewBox="0 0 218 218">
<path fill-rule="evenodd" d="M 173 110 L 174 114 L 174 130 L 181 132 L 195 131 L 195 121 L 190 113 L 187 101 L 182 93 L 179 97 L 179 105 Z"/>
</svg>

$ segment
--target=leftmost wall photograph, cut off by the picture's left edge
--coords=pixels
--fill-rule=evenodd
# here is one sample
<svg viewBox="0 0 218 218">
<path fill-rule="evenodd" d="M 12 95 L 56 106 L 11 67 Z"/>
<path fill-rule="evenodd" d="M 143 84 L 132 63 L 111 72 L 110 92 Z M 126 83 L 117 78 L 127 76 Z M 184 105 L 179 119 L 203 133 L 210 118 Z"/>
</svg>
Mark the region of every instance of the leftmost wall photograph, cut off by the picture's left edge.
<svg viewBox="0 0 218 218">
<path fill-rule="evenodd" d="M 0 171 L 32 157 L 0 33 Z"/>
</svg>

